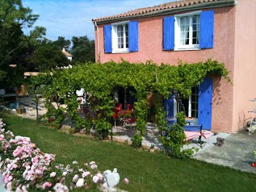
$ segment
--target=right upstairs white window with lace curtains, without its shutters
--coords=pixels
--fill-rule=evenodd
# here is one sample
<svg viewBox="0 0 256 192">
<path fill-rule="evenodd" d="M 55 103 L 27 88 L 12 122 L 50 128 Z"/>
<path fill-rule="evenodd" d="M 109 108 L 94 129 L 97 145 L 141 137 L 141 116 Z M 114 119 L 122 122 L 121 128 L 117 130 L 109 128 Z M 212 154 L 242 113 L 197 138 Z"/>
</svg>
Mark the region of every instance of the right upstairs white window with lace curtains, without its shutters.
<svg viewBox="0 0 256 192">
<path fill-rule="evenodd" d="M 199 48 L 200 16 L 177 16 L 174 49 Z"/>
</svg>

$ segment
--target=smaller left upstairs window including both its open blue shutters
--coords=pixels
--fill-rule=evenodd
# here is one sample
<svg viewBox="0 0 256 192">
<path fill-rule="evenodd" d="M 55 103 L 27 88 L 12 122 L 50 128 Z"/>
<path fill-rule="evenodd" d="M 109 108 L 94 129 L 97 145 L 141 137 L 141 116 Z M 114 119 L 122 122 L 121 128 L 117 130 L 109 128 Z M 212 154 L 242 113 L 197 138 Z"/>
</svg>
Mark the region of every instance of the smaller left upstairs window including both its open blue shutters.
<svg viewBox="0 0 256 192">
<path fill-rule="evenodd" d="M 104 49 L 108 53 L 138 52 L 138 22 L 104 26 Z"/>
</svg>

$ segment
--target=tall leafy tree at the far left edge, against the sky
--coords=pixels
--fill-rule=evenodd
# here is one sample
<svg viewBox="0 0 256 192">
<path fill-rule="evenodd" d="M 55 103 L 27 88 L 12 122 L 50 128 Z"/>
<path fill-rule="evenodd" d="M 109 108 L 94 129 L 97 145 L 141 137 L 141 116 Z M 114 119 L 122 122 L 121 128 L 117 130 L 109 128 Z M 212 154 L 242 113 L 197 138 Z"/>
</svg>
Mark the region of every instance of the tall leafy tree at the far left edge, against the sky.
<svg viewBox="0 0 256 192">
<path fill-rule="evenodd" d="M 0 1 L 0 86 L 15 86 L 23 81 L 23 54 L 31 37 L 23 35 L 23 27 L 31 27 L 38 19 L 21 0 Z M 10 65 L 17 65 L 16 68 Z"/>
</svg>

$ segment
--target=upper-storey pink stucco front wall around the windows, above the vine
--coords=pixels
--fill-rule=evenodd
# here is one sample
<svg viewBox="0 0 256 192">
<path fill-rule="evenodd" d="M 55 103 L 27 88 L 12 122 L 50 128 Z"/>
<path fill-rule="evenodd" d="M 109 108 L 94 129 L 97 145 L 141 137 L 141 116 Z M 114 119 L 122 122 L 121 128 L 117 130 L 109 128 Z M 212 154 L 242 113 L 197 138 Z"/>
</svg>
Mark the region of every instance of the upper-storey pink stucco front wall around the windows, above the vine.
<svg viewBox="0 0 256 192">
<path fill-rule="evenodd" d="M 162 50 L 162 19 L 164 16 L 136 19 L 139 21 L 139 52 L 104 53 L 103 25 L 99 25 L 99 54 L 100 62 L 110 60 L 120 61 L 121 58 L 130 62 L 145 62 L 152 60 L 157 64 L 166 63 L 177 65 L 183 62 L 198 62 L 217 57 L 220 61 L 227 61 L 233 55 L 234 8 L 224 7 L 215 10 L 214 48 L 197 51 L 163 51 Z M 108 23 L 109 24 L 109 23 Z M 95 32 L 96 36 L 96 32 Z M 95 38 L 97 39 L 97 38 Z M 95 42 L 97 44 L 97 42 Z M 97 50 L 96 50 L 97 52 Z M 230 53 L 229 52 L 229 53 Z M 98 56 L 96 56 L 97 58 Z"/>
</svg>

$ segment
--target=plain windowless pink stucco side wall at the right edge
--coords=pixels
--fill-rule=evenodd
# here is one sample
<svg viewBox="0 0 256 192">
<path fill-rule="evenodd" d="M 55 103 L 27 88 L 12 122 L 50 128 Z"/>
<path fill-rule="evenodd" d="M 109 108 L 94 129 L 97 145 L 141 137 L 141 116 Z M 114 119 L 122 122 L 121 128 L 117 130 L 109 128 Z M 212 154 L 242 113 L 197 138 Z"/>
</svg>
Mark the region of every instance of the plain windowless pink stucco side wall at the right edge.
<svg viewBox="0 0 256 192">
<path fill-rule="evenodd" d="M 239 0 L 236 6 L 233 81 L 233 131 L 250 120 L 256 98 L 256 1 Z M 256 117 L 256 114 L 254 115 Z"/>
</svg>

